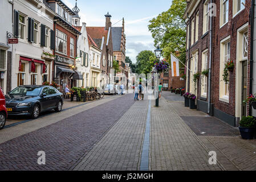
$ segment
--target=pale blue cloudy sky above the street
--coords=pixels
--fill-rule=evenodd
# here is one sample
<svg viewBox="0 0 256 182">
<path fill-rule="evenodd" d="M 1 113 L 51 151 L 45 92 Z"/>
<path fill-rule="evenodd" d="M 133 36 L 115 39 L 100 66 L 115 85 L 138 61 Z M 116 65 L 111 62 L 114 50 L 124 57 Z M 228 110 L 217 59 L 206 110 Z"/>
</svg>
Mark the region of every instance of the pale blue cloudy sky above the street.
<svg viewBox="0 0 256 182">
<path fill-rule="evenodd" d="M 70 9 L 75 7 L 75 0 L 62 0 Z M 151 32 L 148 31 L 149 20 L 162 11 L 167 11 L 172 0 L 78 0 L 79 16 L 88 27 L 105 26 L 105 14 L 111 14 L 112 27 L 121 27 L 124 18 L 126 35 L 126 56 L 136 63 L 140 51 L 154 51 Z M 120 22 L 119 22 L 120 21 Z"/>
</svg>

